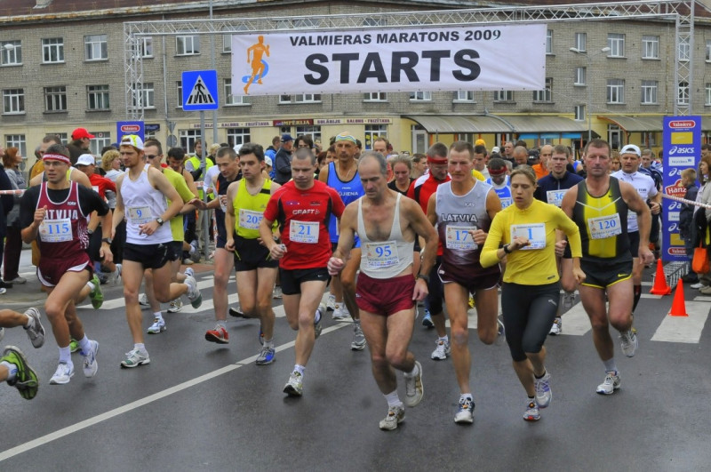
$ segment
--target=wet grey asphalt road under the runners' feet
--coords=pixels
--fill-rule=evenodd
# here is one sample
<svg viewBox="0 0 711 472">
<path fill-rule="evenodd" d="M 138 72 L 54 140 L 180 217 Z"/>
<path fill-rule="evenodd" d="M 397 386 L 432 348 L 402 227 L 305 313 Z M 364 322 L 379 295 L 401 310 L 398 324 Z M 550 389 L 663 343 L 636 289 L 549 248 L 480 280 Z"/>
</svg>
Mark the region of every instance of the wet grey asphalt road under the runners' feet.
<svg viewBox="0 0 711 472">
<path fill-rule="evenodd" d="M 22 260 L 24 275 L 33 278 L 28 253 Z M 484 346 L 472 328 L 475 423 L 454 424 L 459 392 L 451 360 L 429 359 L 435 333 L 419 324 L 420 316 L 411 349 L 423 365 L 425 398 L 407 410 L 399 428 L 383 432 L 378 422 L 387 403 L 372 380 L 367 351 L 349 348 L 352 324 L 327 316 L 308 364 L 304 396 L 286 397 L 282 389 L 294 362 L 295 333 L 281 300 L 275 300 L 276 362 L 257 366 L 257 321 L 228 320 L 228 345 L 204 340 L 214 324 L 212 272 L 206 265 L 197 272 L 203 307 L 188 305 L 166 315 L 167 331 L 147 335 L 151 364 L 139 368 L 119 368 L 132 342 L 118 286 L 104 286 L 101 309 L 80 308 L 86 332 L 100 342 L 99 372 L 92 379 L 84 378 L 81 356 L 74 354 L 77 372 L 71 382 L 49 385 L 57 364 L 49 324 L 40 349 L 32 348 L 22 330 L 7 330 L 3 344 L 24 350 L 41 385 L 31 402 L 14 388 L 0 388 L 0 470 L 711 468 L 711 336 L 703 330 L 711 297 L 689 288 L 686 318 L 667 316 L 671 296 L 640 301 L 635 317 L 640 348 L 627 358 L 616 343 L 622 388 L 613 396 L 595 394 L 603 365 L 576 304 L 563 316 L 563 335 L 546 343 L 553 402 L 537 423 L 523 421 L 525 395 L 506 345 Z M 649 288 L 647 282 L 644 292 Z M 31 281 L 0 301 L 23 311 L 42 299 Z M 144 314 L 148 327 L 151 316 Z M 403 397 L 402 381 L 399 389 Z"/>
</svg>

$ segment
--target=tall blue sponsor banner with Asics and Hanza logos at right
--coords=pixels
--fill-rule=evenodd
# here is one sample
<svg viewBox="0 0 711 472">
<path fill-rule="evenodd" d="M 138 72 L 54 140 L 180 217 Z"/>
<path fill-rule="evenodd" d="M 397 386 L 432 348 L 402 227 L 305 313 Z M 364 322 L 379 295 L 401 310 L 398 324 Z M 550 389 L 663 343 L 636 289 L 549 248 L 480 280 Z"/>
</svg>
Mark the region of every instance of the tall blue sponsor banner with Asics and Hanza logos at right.
<svg viewBox="0 0 711 472">
<path fill-rule="evenodd" d="M 683 197 L 681 173 L 696 169 L 701 156 L 701 117 L 665 116 L 662 131 L 662 162 L 664 164 L 664 193 Z M 687 260 L 683 240 L 679 237 L 680 202 L 662 203 L 662 260 Z"/>
</svg>

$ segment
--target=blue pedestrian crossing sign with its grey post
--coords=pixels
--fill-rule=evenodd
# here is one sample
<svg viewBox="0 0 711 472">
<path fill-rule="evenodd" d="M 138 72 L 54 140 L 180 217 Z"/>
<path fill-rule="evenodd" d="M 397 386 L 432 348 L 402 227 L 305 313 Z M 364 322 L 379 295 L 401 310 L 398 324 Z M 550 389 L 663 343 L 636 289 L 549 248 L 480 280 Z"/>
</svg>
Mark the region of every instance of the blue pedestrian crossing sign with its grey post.
<svg viewBox="0 0 711 472">
<path fill-rule="evenodd" d="M 205 110 L 216 110 L 220 107 L 218 100 L 217 70 L 191 70 L 182 73 L 183 85 L 183 110 L 200 112 L 200 140 L 203 143 L 200 165 L 203 168 L 203 179 L 205 152 Z M 207 203 L 207 192 L 203 192 L 204 202 Z M 203 257 L 207 260 L 208 248 L 210 245 L 210 221 L 203 219 Z"/>
</svg>

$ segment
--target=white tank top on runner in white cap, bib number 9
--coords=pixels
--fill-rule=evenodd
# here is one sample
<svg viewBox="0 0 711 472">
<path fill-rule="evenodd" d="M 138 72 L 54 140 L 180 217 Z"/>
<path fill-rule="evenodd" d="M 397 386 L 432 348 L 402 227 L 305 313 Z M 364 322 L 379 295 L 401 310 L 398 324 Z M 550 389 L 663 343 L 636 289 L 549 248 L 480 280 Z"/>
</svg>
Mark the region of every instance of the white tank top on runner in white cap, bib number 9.
<svg viewBox="0 0 711 472">
<path fill-rule="evenodd" d="M 168 209 L 168 202 L 160 190 L 153 188 L 148 181 L 146 164 L 139 178 L 131 180 L 126 172 L 121 184 L 121 198 L 124 201 L 126 218 L 126 243 L 161 244 L 172 241 L 171 225 L 168 221 L 156 229 L 152 235 L 139 235 L 140 225 L 156 220 Z"/>
</svg>

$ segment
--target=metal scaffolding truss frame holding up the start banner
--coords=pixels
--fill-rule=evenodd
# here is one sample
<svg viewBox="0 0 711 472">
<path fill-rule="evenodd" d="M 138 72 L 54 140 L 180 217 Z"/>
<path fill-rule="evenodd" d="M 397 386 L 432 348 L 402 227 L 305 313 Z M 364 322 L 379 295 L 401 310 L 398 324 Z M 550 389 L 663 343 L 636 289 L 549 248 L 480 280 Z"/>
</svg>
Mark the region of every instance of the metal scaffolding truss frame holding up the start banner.
<svg viewBox="0 0 711 472">
<path fill-rule="evenodd" d="M 428 12 L 368 12 L 356 14 L 156 20 L 124 22 L 126 116 L 142 120 L 143 61 L 140 44 L 146 37 L 225 35 L 230 31 L 269 33 L 290 30 L 328 31 L 356 28 L 551 23 L 580 20 L 669 20 L 675 22 L 675 114 L 691 113 L 695 0 L 511 6 Z"/>
</svg>

